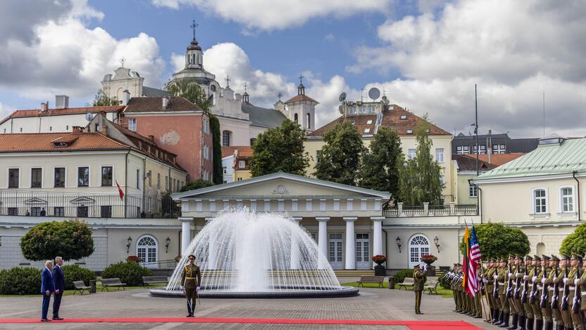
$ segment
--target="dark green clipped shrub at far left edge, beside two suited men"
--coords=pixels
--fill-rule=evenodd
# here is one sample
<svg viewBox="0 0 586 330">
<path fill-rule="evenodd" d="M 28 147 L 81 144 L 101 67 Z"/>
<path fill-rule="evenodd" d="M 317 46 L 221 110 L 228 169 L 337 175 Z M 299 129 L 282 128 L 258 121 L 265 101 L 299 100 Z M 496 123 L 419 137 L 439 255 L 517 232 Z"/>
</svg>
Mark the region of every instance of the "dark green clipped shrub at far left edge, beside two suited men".
<svg viewBox="0 0 586 330">
<path fill-rule="evenodd" d="M 14 267 L 0 271 L 0 295 L 41 294 L 41 271 L 32 267 Z"/>
</svg>

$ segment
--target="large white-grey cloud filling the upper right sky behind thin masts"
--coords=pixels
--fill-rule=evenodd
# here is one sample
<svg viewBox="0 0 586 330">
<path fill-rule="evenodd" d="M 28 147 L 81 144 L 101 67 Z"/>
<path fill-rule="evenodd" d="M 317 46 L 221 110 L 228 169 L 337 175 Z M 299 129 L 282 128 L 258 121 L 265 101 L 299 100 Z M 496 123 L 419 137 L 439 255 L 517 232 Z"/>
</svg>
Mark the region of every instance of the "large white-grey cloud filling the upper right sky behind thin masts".
<svg viewBox="0 0 586 330">
<path fill-rule="evenodd" d="M 478 83 L 480 130 L 586 135 L 586 3 L 568 1 L 454 1 L 437 13 L 388 20 L 378 28 L 382 47 L 356 50 L 354 73 L 398 71 L 383 84 L 391 100 L 428 112 L 445 130 L 468 133 Z M 424 10 L 425 9 L 425 10 Z"/>
</svg>

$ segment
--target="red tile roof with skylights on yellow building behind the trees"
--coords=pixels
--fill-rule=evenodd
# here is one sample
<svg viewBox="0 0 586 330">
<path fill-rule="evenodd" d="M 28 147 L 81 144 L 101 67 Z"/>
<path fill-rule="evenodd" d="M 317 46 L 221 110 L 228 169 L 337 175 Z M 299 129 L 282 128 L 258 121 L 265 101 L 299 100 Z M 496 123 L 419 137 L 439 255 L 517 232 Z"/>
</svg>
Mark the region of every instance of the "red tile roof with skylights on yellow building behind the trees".
<svg viewBox="0 0 586 330">
<path fill-rule="evenodd" d="M 401 119 L 401 116 L 404 116 L 404 119 Z M 354 125 L 356 128 L 358 128 L 362 135 L 374 134 L 377 114 L 359 114 L 345 117 L 341 116 L 334 121 L 325 124 L 325 126 L 314 130 L 307 136 L 323 136 L 328 130 L 336 126 L 338 123 L 342 123 L 344 121 L 354 121 Z M 421 121 L 423 121 L 423 118 L 416 116 L 416 114 L 406 111 L 400 106 L 390 105 L 389 108 L 382 113 L 381 126 L 392 128 L 397 131 L 397 134 L 399 135 L 415 135 L 415 128 Z M 367 129 L 368 133 L 366 132 Z M 409 134 L 407 133 L 407 130 L 412 130 L 413 133 Z M 446 130 L 442 130 L 442 128 L 439 128 L 430 123 L 430 135 L 451 135 L 451 133 L 447 132 Z"/>
</svg>

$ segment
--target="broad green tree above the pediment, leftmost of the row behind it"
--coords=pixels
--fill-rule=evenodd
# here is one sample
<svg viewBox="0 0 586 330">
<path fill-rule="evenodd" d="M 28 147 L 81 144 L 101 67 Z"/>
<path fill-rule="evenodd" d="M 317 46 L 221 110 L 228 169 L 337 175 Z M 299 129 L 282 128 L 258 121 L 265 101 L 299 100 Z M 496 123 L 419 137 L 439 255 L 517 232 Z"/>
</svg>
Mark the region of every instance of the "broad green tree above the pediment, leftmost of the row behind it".
<svg viewBox="0 0 586 330">
<path fill-rule="evenodd" d="M 305 175 L 309 154 L 305 152 L 304 140 L 305 131 L 288 119 L 280 127 L 259 134 L 252 146 L 254 154 L 249 164 L 252 176 L 278 171 Z"/>
</svg>

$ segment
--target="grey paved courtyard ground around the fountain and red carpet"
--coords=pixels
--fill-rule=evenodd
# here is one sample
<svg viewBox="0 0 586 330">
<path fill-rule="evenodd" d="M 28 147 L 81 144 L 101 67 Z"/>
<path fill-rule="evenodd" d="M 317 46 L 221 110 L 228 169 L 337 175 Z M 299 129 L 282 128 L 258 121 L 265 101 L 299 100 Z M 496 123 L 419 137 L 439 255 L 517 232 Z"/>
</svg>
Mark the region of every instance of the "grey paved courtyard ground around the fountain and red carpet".
<svg viewBox="0 0 586 330">
<path fill-rule="evenodd" d="M 361 288 L 353 298 L 221 300 L 202 299 L 197 317 L 258 319 L 364 319 L 364 320 L 444 320 L 466 321 L 493 328 L 481 319 L 451 312 L 454 300 L 423 295 L 421 310 L 413 310 L 413 292 L 383 288 Z M 0 319 L 39 318 L 41 297 L 0 298 Z M 51 314 L 51 310 L 49 310 Z M 154 298 L 146 289 L 73 295 L 63 298 L 61 317 L 127 318 L 185 317 L 185 300 Z M 349 324 L 197 324 L 197 323 L 62 323 L 1 324 L 0 329 L 407 329 L 406 326 Z M 413 329 L 413 328 L 412 328 Z M 463 329 L 463 328 L 459 328 Z M 494 329 L 494 328 L 493 328 Z"/>
</svg>

